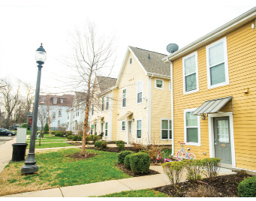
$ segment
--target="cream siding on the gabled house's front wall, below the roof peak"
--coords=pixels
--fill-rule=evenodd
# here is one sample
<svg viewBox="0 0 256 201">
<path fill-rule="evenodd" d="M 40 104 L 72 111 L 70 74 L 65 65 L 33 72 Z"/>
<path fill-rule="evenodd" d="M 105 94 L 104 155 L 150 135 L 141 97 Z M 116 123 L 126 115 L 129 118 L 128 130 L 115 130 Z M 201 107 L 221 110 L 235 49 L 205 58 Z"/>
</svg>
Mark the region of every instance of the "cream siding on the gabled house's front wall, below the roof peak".
<svg viewBox="0 0 256 201">
<path fill-rule="evenodd" d="M 132 64 L 130 65 L 130 58 L 132 58 Z M 128 119 L 133 119 L 132 121 L 132 138 L 136 140 L 136 121 L 138 118 L 142 119 L 142 141 L 146 143 L 148 139 L 147 132 L 147 107 L 145 99 L 143 99 L 141 104 L 137 104 L 137 83 L 143 81 L 143 98 L 147 98 L 148 91 L 148 77 L 146 76 L 143 68 L 134 58 L 134 55 L 129 52 L 128 59 L 124 64 L 124 71 L 122 71 L 119 92 L 118 92 L 118 104 L 117 104 L 117 119 L 121 118 L 127 112 L 133 113 Z M 126 89 L 126 107 L 122 107 L 122 90 Z M 125 121 L 125 131 L 122 131 L 122 121 L 116 121 L 116 140 L 124 140 L 127 142 L 127 132 L 128 132 L 128 121 Z"/>
</svg>

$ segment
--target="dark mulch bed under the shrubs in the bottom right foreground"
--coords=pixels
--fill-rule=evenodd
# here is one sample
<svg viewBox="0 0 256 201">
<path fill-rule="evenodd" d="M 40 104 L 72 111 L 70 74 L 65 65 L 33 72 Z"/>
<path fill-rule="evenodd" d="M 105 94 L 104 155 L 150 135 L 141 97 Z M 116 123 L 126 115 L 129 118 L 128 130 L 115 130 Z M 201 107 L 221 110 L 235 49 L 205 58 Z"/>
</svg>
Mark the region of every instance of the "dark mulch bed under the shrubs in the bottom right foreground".
<svg viewBox="0 0 256 201">
<path fill-rule="evenodd" d="M 212 190 L 214 190 L 214 193 L 211 196 L 237 197 L 238 184 L 248 177 L 251 177 L 251 175 L 246 175 L 242 173 L 238 173 L 236 175 L 221 175 L 217 176 L 213 181 L 211 181 L 209 178 L 203 178 L 202 181 L 206 184 L 200 182 L 193 183 L 191 181 L 185 181 L 180 183 L 177 188 L 174 188 L 171 185 L 167 185 L 164 187 L 157 187 L 155 188 L 155 190 L 166 193 L 169 196 L 176 197 L 193 196 L 193 193 L 194 196 L 200 196 L 198 187 L 200 187 L 200 185 L 203 185 L 205 187 L 211 187 Z M 190 193 L 189 195 L 188 192 Z M 192 195 L 191 192 L 193 192 Z"/>
</svg>

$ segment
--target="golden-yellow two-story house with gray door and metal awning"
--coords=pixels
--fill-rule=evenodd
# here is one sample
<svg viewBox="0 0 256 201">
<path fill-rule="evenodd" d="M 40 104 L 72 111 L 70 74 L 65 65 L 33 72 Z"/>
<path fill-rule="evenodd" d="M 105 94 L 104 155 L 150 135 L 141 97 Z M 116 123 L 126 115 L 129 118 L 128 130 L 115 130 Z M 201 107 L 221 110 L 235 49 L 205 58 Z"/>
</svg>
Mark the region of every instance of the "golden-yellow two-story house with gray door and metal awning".
<svg viewBox="0 0 256 201">
<path fill-rule="evenodd" d="M 256 7 L 163 58 L 170 64 L 173 154 L 256 173 Z"/>
</svg>

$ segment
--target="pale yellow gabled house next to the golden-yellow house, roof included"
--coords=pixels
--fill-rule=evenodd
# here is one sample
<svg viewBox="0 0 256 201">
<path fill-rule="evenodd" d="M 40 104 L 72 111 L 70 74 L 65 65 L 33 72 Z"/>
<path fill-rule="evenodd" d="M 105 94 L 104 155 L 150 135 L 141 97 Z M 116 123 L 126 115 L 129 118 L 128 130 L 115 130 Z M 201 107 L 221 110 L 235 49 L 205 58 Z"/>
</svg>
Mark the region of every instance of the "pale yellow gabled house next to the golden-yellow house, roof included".
<svg viewBox="0 0 256 201">
<path fill-rule="evenodd" d="M 171 144 L 170 65 L 164 56 L 128 46 L 116 81 L 115 140 Z"/>
</svg>

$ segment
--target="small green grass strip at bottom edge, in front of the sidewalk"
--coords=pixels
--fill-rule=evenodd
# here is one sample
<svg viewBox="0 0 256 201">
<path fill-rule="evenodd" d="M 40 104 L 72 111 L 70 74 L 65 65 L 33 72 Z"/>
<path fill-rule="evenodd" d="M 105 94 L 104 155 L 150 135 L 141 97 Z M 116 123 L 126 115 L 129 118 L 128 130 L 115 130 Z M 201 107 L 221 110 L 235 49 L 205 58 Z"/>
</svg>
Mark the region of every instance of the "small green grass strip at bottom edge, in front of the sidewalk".
<svg viewBox="0 0 256 201">
<path fill-rule="evenodd" d="M 121 193 L 111 193 L 101 197 L 168 197 L 164 193 L 160 193 L 155 190 L 131 190 L 122 191 Z"/>
</svg>

